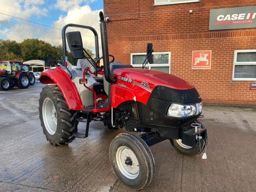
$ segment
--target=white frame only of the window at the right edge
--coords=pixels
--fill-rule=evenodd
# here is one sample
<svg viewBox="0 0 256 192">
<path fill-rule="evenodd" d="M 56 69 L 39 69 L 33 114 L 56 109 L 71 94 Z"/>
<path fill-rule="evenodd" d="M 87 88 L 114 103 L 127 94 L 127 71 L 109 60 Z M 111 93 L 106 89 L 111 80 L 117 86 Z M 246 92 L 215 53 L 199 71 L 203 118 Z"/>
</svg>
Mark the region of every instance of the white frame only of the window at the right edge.
<svg viewBox="0 0 256 192">
<path fill-rule="evenodd" d="M 256 49 L 242 49 L 242 50 L 235 50 L 234 52 L 234 64 L 233 64 L 233 74 L 232 80 L 233 81 L 256 81 L 256 78 L 235 78 L 235 66 L 238 65 L 256 65 L 256 61 L 252 62 L 237 62 L 237 53 L 244 53 L 244 52 L 256 52 Z"/>
</svg>

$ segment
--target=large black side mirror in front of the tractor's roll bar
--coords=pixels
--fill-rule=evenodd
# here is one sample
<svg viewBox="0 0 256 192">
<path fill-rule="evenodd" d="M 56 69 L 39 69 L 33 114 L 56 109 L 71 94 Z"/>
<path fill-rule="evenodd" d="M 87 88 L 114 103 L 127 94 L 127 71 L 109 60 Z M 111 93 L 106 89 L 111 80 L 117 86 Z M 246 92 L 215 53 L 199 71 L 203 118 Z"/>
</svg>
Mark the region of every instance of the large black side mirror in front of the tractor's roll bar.
<svg viewBox="0 0 256 192">
<path fill-rule="evenodd" d="M 72 31 L 66 33 L 67 44 L 74 59 L 83 59 L 83 42 L 80 31 Z"/>
</svg>

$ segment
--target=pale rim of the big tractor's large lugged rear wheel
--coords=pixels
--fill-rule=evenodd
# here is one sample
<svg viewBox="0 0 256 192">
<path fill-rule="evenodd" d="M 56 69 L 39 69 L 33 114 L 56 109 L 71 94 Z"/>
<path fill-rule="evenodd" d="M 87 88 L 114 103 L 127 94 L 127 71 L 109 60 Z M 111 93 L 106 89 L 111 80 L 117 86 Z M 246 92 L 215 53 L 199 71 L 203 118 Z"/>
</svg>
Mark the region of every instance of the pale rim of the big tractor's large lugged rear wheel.
<svg viewBox="0 0 256 192">
<path fill-rule="evenodd" d="M 43 100 L 42 113 L 43 123 L 45 124 L 46 130 L 51 135 L 54 135 L 54 133 L 57 130 L 57 114 L 54 104 L 52 103 L 52 100 L 50 100 L 49 98 Z"/>
</svg>

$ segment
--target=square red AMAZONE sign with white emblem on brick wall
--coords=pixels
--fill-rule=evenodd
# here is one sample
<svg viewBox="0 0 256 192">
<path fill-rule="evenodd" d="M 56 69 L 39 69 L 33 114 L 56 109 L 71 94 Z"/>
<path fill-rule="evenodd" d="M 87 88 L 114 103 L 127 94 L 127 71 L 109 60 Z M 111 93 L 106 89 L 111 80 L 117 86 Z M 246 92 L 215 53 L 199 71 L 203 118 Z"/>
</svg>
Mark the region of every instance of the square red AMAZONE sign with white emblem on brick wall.
<svg viewBox="0 0 256 192">
<path fill-rule="evenodd" d="M 211 51 L 193 51 L 192 69 L 211 69 Z"/>
</svg>

